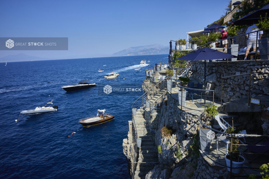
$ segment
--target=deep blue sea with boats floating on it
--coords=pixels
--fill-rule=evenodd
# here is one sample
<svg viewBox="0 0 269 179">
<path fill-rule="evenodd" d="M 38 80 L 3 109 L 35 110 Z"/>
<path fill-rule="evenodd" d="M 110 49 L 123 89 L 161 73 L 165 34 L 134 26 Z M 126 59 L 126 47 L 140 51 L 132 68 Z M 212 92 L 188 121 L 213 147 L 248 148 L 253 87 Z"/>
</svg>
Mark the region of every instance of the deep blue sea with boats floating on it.
<svg viewBox="0 0 269 179">
<path fill-rule="evenodd" d="M 150 65 L 135 71 L 142 59 Z M 0 63 L 0 178 L 129 178 L 122 140 L 138 96 L 98 96 L 98 87 L 75 92 L 61 87 L 81 80 L 142 85 L 145 70 L 159 62 L 167 63 L 167 55 Z M 104 79 L 110 71 L 119 77 Z M 57 112 L 15 122 L 22 110 L 52 98 Z M 104 108 L 114 120 L 87 128 L 78 123 Z"/>
</svg>

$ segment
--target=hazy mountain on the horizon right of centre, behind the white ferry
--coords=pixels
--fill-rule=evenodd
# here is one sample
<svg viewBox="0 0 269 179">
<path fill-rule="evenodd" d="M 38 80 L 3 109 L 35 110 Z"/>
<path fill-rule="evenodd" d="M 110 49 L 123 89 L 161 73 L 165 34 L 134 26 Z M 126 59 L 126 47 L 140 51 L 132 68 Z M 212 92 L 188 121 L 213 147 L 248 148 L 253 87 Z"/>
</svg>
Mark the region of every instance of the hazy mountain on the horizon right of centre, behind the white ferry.
<svg viewBox="0 0 269 179">
<path fill-rule="evenodd" d="M 170 49 L 169 46 L 164 46 L 161 44 L 135 46 L 116 52 L 112 56 L 168 54 L 169 49 Z"/>
</svg>

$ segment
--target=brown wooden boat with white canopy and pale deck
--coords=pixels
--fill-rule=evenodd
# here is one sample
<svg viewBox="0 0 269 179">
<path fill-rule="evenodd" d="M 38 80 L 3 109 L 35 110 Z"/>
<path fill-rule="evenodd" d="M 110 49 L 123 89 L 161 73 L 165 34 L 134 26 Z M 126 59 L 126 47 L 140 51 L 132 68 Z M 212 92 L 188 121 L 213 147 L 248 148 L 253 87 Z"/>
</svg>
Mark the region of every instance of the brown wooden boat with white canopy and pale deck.
<svg viewBox="0 0 269 179">
<path fill-rule="evenodd" d="M 83 127 L 87 127 L 87 126 L 94 126 L 97 124 L 105 123 L 107 121 L 111 121 L 114 118 L 115 117 L 110 114 L 105 114 L 105 109 L 103 110 L 98 109 L 96 116 L 83 118 L 79 120 L 79 123 Z"/>
</svg>

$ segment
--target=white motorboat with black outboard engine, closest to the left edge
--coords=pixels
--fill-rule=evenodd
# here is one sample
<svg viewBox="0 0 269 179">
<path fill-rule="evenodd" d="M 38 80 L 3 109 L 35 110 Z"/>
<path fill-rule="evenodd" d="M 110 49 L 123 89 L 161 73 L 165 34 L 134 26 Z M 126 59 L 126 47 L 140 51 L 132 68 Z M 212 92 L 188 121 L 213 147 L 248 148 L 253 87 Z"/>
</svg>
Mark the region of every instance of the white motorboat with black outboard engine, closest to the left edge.
<svg viewBox="0 0 269 179">
<path fill-rule="evenodd" d="M 36 109 L 24 110 L 24 111 L 22 111 L 20 113 L 25 114 L 27 116 L 33 116 L 33 115 L 36 115 L 36 114 L 58 111 L 58 106 L 53 106 L 52 107 L 52 105 L 53 105 L 53 103 L 51 101 L 50 103 L 47 103 L 43 107 L 37 106 Z"/>
</svg>

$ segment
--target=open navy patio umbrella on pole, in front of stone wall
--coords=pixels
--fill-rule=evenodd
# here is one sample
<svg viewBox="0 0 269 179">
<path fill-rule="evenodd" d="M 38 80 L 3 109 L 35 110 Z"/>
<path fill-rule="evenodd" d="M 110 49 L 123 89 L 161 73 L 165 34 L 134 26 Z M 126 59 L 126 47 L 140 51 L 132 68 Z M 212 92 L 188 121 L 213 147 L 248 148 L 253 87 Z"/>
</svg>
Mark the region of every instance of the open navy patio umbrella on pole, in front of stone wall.
<svg viewBox="0 0 269 179">
<path fill-rule="evenodd" d="M 189 53 L 176 60 L 189 60 L 189 61 L 204 60 L 204 89 L 206 89 L 206 60 L 228 59 L 228 58 L 237 58 L 237 56 L 204 47 L 201 49 L 194 50 L 192 53 Z M 204 98 L 205 98 L 204 102 L 206 102 L 206 96 Z"/>
</svg>

